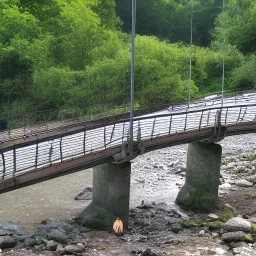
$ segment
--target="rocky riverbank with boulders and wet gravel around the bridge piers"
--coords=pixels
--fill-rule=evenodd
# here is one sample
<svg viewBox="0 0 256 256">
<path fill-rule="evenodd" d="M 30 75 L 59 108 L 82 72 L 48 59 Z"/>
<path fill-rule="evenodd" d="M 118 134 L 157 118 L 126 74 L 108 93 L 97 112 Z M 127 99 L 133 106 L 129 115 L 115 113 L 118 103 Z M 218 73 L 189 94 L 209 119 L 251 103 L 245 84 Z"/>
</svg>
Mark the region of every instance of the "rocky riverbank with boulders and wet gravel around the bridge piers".
<svg viewBox="0 0 256 256">
<path fill-rule="evenodd" d="M 256 136 L 234 136 L 221 144 L 218 210 L 202 214 L 175 205 L 187 146 L 166 148 L 133 162 L 130 225 L 123 236 L 89 230 L 75 220 L 44 221 L 32 230 L 5 223 L 2 255 L 256 255 Z M 90 198 L 87 188 L 76 199 Z"/>
</svg>

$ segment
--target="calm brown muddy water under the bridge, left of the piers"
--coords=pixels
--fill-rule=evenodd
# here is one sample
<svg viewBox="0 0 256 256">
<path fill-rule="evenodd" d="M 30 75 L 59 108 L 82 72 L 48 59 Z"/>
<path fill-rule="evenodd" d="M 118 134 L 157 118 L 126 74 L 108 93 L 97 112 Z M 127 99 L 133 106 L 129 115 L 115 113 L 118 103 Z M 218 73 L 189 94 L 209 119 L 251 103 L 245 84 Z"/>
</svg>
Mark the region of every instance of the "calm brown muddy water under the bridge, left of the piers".
<svg viewBox="0 0 256 256">
<path fill-rule="evenodd" d="M 91 184 L 92 171 L 85 170 L 1 194 L 0 223 L 68 220 L 88 204 L 74 198 Z"/>
</svg>

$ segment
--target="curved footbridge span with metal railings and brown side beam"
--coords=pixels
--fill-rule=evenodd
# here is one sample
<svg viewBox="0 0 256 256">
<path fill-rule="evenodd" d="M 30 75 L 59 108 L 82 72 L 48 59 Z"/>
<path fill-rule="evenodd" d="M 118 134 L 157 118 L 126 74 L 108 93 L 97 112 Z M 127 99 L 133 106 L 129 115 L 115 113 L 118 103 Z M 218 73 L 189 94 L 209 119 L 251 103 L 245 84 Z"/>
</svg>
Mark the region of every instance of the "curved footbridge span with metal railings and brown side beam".
<svg viewBox="0 0 256 256">
<path fill-rule="evenodd" d="M 132 156 L 128 119 L 0 137 L 0 193 L 157 148 L 256 132 L 256 93 L 225 98 L 221 106 L 221 99 L 204 100 L 135 117 Z"/>
</svg>

